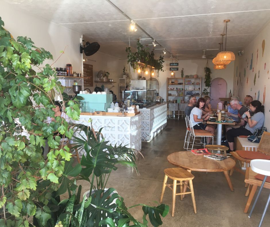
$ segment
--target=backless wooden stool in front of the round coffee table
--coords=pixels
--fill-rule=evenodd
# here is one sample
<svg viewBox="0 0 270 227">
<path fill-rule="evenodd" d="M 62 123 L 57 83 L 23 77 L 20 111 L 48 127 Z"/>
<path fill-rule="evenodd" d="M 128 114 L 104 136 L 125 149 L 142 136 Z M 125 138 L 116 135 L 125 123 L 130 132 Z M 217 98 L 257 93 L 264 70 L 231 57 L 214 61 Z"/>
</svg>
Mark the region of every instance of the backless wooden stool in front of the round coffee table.
<svg viewBox="0 0 270 227">
<path fill-rule="evenodd" d="M 172 207 L 172 215 L 171 216 L 174 217 L 175 196 L 180 195 L 181 200 L 183 200 L 183 195 L 185 195 L 185 194 L 191 194 L 194 213 L 197 213 L 194 191 L 193 191 L 193 184 L 192 184 L 192 179 L 194 178 L 194 176 L 190 172 L 188 172 L 182 168 L 165 169 L 164 173 L 165 173 L 165 177 L 164 177 L 164 181 L 163 181 L 160 202 L 162 203 L 162 199 L 163 199 L 164 192 L 165 192 L 165 187 L 167 186 L 168 188 L 170 188 L 173 191 L 173 207 Z M 173 180 L 173 184 L 172 184 L 173 188 L 171 188 L 171 184 L 167 184 L 168 177 Z M 177 181 L 180 181 L 180 183 L 177 183 Z M 183 181 L 189 181 L 189 186 Z M 190 192 L 183 192 L 183 184 L 187 188 L 190 189 Z M 176 185 L 180 185 L 180 193 L 176 193 Z"/>
</svg>

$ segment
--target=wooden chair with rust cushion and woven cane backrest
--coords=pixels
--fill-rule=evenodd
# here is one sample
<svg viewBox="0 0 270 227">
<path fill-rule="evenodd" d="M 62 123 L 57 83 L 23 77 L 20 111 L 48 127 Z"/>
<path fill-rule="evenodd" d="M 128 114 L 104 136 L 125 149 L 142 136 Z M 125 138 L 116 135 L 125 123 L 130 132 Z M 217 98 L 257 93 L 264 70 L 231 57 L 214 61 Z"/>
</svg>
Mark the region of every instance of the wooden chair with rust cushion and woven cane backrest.
<svg viewBox="0 0 270 227">
<path fill-rule="evenodd" d="M 234 157 L 235 161 L 239 161 L 240 167 L 241 167 L 241 162 L 246 163 L 246 173 L 242 171 L 242 169 L 234 166 L 230 172 L 230 176 L 232 176 L 234 169 L 238 171 L 239 173 L 245 175 L 245 179 L 248 179 L 248 174 L 249 174 L 249 163 L 253 159 L 266 159 L 270 160 L 270 133 L 264 132 L 261 141 L 258 145 L 257 151 L 244 151 L 244 150 L 237 150 L 234 152 L 231 152 L 231 155 Z M 245 185 L 247 187 L 248 184 Z M 246 196 L 248 196 L 249 188 L 246 191 Z"/>
</svg>

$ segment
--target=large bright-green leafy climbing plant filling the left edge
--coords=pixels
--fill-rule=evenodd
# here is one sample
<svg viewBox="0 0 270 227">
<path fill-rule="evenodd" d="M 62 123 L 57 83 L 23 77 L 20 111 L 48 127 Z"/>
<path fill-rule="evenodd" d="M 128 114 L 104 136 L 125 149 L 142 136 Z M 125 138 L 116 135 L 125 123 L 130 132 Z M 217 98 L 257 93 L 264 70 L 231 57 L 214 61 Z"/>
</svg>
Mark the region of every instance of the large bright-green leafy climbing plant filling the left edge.
<svg viewBox="0 0 270 227">
<path fill-rule="evenodd" d="M 60 135 L 73 135 L 67 122 L 56 117 L 46 123 L 54 117 L 53 94 L 64 89 L 55 70 L 43 64 L 53 56 L 28 37 L 14 39 L 3 26 L 0 17 L 0 226 L 28 226 L 29 216 L 45 226 L 52 193 L 81 167 L 65 167 L 70 153 Z M 63 100 L 67 115 L 78 119 L 78 101 Z M 42 155 L 46 138 L 51 147 L 47 160 Z"/>
</svg>

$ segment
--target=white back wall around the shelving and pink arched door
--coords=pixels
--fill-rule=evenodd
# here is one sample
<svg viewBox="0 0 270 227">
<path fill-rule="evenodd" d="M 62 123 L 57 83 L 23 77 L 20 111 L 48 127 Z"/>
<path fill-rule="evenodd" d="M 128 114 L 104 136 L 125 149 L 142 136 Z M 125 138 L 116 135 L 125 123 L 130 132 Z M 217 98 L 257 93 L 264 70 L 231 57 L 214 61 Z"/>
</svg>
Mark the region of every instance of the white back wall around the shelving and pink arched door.
<svg viewBox="0 0 270 227">
<path fill-rule="evenodd" d="M 160 72 L 159 77 L 155 77 L 159 81 L 159 95 L 166 100 L 167 98 L 167 77 L 171 77 L 171 71 L 169 71 L 169 63 L 171 61 L 165 61 L 163 66 L 165 69 L 164 72 Z M 181 70 L 184 68 L 184 76 L 185 75 L 194 75 L 197 74 L 199 77 L 202 77 L 202 91 L 205 88 L 204 84 L 204 68 L 207 63 L 207 60 L 199 59 L 199 60 L 180 60 L 179 63 L 179 71 L 175 72 L 175 77 L 181 77 Z M 208 60 L 209 68 L 211 69 L 211 77 L 212 80 L 215 78 L 223 78 L 227 82 L 227 97 L 229 97 L 230 89 L 233 89 L 233 73 L 234 73 L 234 62 L 231 62 L 227 65 L 226 69 L 213 69 L 214 64 L 212 60 Z M 133 72 L 133 69 L 132 69 Z M 132 76 L 134 78 L 138 77 L 138 73 L 133 73 Z M 146 79 L 149 79 L 150 76 L 145 76 Z M 209 90 L 209 89 L 208 89 Z"/>
</svg>

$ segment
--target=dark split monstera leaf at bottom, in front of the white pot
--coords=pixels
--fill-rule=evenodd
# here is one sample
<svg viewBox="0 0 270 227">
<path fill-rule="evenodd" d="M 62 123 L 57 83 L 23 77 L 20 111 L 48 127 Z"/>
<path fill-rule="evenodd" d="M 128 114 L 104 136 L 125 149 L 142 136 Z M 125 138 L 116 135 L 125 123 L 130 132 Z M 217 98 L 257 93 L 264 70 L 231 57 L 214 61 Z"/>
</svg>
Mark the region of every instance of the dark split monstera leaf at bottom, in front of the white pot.
<svg viewBox="0 0 270 227">
<path fill-rule="evenodd" d="M 91 195 L 91 203 L 86 208 L 90 215 L 86 222 L 86 226 L 98 227 L 100 226 L 99 222 L 101 220 L 106 218 L 114 219 L 118 216 L 117 212 L 115 211 L 117 204 L 113 203 L 113 200 L 119 197 L 119 195 L 117 193 L 113 193 L 114 190 L 114 188 L 109 188 L 107 191 L 97 190 L 96 193 Z"/>
</svg>

